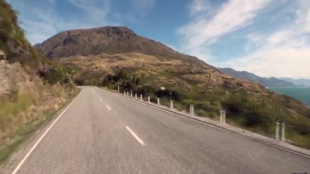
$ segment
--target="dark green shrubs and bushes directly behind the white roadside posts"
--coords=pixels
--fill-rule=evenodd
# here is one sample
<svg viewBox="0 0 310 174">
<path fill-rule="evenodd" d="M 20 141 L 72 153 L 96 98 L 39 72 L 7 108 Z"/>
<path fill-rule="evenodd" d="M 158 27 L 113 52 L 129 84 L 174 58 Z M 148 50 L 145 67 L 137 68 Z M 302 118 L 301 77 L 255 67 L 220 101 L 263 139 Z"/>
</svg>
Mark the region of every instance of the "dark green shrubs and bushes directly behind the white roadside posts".
<svg viewBox="0 0 310 174">
<path fill-rule="evenodd" d="M 134 81 L 141 79 L 144 84 L 137 84 Z M 124 73 L 120 70 L 115 75 L 107 75 L 103 86 L 117 89 L 120 86 L 121 92 L 130 91 L 133 93 L 150 96 L 152 102 L 157 102 L 157 97 L 161 98 L 161 104 L 170 105 L 170 100 L 174 101 L 174 107 L 178 110 L 189 112 L 189 105 L 195 105 L 195 113 L 201 117 L 209 117 L 214 120 L 219 120 L 220 109 L 226 110 L 227 123 L 241 127 L 253 132 L 274 137 L 275 122 L 286 123 L 287 139 L 293 144 L 303 148 L 310 148 L 310 120 L 306 117 L 300 119 L 292 119 L 288 108 L 290 108 L 291 99 L 288 96 L 283 96 L 278 101 L 269 101 L 264 98 L 257 98 L 254 95 L 249 95 L 244 90 L 240 90 L 237 95 L 233 90 L 229 89 L 214 89 L 212 93 L 197 89 L 196 93 L 182 93 L 171 88 L 160 90 L 160 86 L 146 84 L 152 81 L 153 78 L 137 77 L 130 73 Z M 274 102 L 285 102 L 283 107 Z M 287 111 L 283 111 L 287 110 Z"/>
</svg>

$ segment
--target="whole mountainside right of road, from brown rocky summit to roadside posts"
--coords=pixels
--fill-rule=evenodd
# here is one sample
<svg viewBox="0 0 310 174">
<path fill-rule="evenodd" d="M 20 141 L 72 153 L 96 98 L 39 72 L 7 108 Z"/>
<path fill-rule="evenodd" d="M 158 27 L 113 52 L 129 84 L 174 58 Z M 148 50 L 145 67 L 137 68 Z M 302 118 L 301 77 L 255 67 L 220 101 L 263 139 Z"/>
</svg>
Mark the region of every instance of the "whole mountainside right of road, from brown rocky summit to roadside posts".
<svg viewBox="0 0 310 174">
<path fill-rule="evenodd" d="M 150 95 L 152 100 L 173 99 L 180 110 L 195 104 L 196 114 L 214 119 L 224 108 L 235 125 L 270 135 L 274 135 L 274 124 L 266 124 L 266 120 L 310 126 L 310 110 L 304 103 L 274 93 L 259 83 L 228 76 L 196 57 L 137 36 L 125 27 L 66 31 L 35 47 L 57 63 L 72 68 L 73 80 L 79 85 L 111 89 L 120 85 L 121 91 Z M 166 90 L 160 90 L 161 86 Z M 294 128 L 294 132 L 305 136 L 303 129 Z M 297 144 L 310 147 L 308 142 L 310 138 L 299 139 Z"/>
</svg>

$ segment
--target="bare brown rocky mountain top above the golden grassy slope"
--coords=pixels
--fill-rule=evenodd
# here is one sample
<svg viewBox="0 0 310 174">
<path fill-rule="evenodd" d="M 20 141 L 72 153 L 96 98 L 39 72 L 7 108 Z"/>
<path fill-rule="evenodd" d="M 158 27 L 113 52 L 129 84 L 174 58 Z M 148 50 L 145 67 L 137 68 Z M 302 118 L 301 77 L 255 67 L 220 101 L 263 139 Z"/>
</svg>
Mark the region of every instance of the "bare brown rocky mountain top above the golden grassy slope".
<svg viewBox="0 0 310 174">
<path fill-rule="evenodd" d="M 34 47 L 50 59 L 72 55 L 139 52 L 201 62 L 196 57 L 180 54 L 160 42 L 138 36 L 125 26 L 104 26 L 86 30 L 65 31 L 41 44 L 34 45 Z"/>
</svg>

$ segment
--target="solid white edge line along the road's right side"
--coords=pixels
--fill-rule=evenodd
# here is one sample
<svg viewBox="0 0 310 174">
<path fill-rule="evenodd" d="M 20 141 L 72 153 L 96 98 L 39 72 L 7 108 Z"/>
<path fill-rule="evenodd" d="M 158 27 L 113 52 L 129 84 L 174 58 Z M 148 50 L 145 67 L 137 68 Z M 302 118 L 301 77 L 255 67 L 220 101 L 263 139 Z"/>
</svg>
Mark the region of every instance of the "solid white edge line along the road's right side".
<svg viewBox="0 0 310 174">
<path fill-rule="evenodd" d="M 125 97 L 125 98 L 127 98 L 127 97 Z M 144 104 L 144 105 L 147 105 L 147 106 L 150 106 L 150 107 L 153 107 L 153 108 L 156 108 L 156 109 L 159 109 L 159 110 L 168 112 L 168 113 L 172 113 L 172 114 L 177 115 L 177 116 L 179 116 L 179 117 L 183 117 L 183 118 L 185 118 L 185 119 L 189 119 L 189 120 L 192 120 L 192 121 L 195 121 L 195 122 L 204 124 L 204 125 L 208 125 L 208 126 L 211 126 L 211 127 L 217 128 L 217 129 L 220 129 L 220 130 L 230 131 L 230 130 L 227 130 L 227 129 L 224 129 L 224 128 L 221 128 L 221 127 L 213 126 L 213 125 L 211 125 L 211 124 L 208 124 L 208 123 L 205 123 L 205 122 L 202 122 L 202 121 L 197 121 L 197 120 L 195 120 L 195 119 L 191 119 L 191 118 L 185 117 L 185 116 L 183 116 L 183 115 L 180 115 L 180 114 L 177 114 L 177 113 L 173 113 L 173 112 L 170 112 L 170 111 L 168 111 L 168 110 L 161 109 L 161 108 L 158 108 L 158 107 L 155 107 L 155 106 L 152 106 L 152 105 L 149 105 L 149 104 L 146 104 L 146 103 L 137 101 L 137 100 L 135 100 L 135 99 L 131 99 L 131 98 L 127 98 L 127 99 L 130 99 L 130 100 L 133 100 L 133 101 L 135 101 L 135 102 L 138 102 L 138 103 L 141 103 L 141 104 Z M 234 131 L 231 131 L 231 132 L 236 133 L 236 134 L 239 134 L 238 132 L 234 132 Z M 240 134 L 240 135 L 242 135 L 242 134 Z M 292 154 L 299 155 L 299 156 L 302 156 L 302 157 L 304 157 L 304 158 L 310 159 L 310 156 L 307 156 L 307 155 L 304 155 L 304 154 L 301 154 L 301 153 L 298 153 L 298 152 L 295 152 L 295 151 L 291 151 L 291 150 L 282 148 L 282 147 L 280 147 L 280 146 L 276 146 L 275 144 L 266 142 L 266 141 L 264 141 L 264 140 L 261 140 L 261 139 L 255 138 L 255 137 L 249 137 L 249 136 L 246 136 L 246 135 L 242 135 L 242 136 L 245 136 L 245 137 L 250 138 L 250 139 L 252 139 L 252 140 L 259 141 L 259 142 L 261 142 L 261 143 L 267 144 L 267 145 L 272 146 L 272 147 L 274 147 L 274 148 L 281 149 L 281 150 L 283 150 L 283 151 L 286 151 L 286 152 L 289 152 L 289 153 L 292 153 Z"/>
</svg>

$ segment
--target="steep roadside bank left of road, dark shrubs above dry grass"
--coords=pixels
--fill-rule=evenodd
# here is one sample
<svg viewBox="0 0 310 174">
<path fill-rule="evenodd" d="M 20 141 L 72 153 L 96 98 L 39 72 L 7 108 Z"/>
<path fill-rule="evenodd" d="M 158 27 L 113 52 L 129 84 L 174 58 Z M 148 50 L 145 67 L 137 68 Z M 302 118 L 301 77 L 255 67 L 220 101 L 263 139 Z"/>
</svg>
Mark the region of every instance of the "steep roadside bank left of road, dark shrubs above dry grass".
<svg viewBox="0 0 310 174">
<path fill-rule="evenodd" d="M 77 93 L 69 73 L 32 48 L 0 0 L 0 162 Z"/>
</svg>

